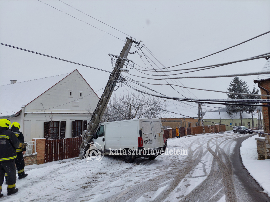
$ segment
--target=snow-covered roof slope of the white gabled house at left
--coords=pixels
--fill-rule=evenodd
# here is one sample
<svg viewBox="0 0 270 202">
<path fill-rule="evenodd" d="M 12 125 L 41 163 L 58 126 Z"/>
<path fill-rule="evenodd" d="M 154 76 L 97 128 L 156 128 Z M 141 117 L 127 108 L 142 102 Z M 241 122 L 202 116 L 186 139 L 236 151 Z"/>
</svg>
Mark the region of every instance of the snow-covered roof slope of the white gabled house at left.
<svg viewBox="0 0 270 202">
<path fill-rule="evenodd" d="M 28 105 L 72 72 L 0 86 L 0 118 L 20 112 L 22 106 Z"/>
</svg>

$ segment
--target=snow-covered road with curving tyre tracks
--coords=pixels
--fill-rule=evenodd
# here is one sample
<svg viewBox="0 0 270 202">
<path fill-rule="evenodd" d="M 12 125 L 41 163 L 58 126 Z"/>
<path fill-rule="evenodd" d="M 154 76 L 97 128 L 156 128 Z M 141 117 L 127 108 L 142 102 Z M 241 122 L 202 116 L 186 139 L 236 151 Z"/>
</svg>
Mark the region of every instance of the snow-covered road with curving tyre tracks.
<svg viewBox="0 0 270 202">
<path fill-rule="evenodd" d="M 1 200 L 256 201 L 231 162 L 237 141 L 248 136 L 223 132 L 174 138 L 167 148 L 187 149 L 188 155 L 138 158 L 133 164 L 105 156 L 100 162 L 70 159 L 26 166 L 28 177 L 16 183 L 19 192 L 7 196 L 3 185 Z"/>
</svg>

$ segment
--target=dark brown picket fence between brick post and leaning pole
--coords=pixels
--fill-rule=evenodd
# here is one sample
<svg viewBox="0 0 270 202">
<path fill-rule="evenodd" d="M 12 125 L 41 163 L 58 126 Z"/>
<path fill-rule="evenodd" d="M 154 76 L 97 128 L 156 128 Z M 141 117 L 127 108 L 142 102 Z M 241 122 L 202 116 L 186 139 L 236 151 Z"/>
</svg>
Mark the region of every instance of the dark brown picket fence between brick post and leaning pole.
<svg viewBox="0 0 270 202">
<path fill-rule="evenodd" d="M 46 140 L 44 163 L 78 157 L 81 137 Z"/>
</svg>

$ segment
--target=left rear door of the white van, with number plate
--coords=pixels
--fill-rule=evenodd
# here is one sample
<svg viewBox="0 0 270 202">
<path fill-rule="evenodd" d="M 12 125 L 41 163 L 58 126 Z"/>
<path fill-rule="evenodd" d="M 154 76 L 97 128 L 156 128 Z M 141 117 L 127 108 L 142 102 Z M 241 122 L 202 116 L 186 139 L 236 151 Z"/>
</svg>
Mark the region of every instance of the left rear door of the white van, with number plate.
<svg viewBox="0 0 270 202">
<path fill-rule="evenodd" d="M 155 148 L 154 142 L 154 131 L 152 128 L 151 120 L 141 120 L 142 135 L 143 135 L 143 146 L 148 149 Z"/>
</svg>

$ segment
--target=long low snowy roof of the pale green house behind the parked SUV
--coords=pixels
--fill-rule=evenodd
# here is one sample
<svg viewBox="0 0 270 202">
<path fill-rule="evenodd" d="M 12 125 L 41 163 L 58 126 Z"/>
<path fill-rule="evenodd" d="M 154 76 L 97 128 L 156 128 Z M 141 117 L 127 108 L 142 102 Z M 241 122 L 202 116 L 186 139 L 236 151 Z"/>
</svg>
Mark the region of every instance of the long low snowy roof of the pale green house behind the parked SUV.
<svg viewBox="0 0 270 202">
<path fill-rule="evenodd" d="M 232 114 L 231 116 L 227 112 L 206 112 L 203 119 L 240 119 L 240 113 Z M 251 119 L 251 114 L 242 113 L 242 119 Z"/>
</svg>

